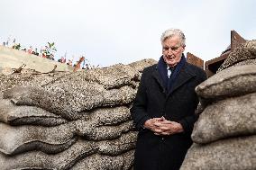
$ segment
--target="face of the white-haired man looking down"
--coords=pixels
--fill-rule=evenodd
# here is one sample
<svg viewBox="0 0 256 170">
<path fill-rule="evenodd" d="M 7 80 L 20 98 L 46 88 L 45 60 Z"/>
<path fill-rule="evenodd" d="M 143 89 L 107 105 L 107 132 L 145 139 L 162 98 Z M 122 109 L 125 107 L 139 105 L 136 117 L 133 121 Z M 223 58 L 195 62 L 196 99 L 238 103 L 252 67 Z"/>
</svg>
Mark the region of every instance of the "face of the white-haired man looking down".
<svg viewBox="0 0 256 170">
<path fill-rule="evenodd" d="M 185 47 L 180 46 L 178 36 L 170 37 L 162 42 L 163 59 L 169 67 L 175 67 L 182 56 Z"/>
</svg>

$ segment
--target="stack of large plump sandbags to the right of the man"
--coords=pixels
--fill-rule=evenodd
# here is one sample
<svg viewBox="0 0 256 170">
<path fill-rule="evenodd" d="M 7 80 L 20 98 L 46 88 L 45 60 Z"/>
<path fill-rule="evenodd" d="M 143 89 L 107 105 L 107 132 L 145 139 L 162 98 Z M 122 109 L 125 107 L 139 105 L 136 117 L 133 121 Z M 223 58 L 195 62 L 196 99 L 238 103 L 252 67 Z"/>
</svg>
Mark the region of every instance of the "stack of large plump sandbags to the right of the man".
<svg viewBox="0 0 256 170">
<path fill-rule="evenodd" d="M 225 59 L 196 88 L 204 111 L 181 170 L 256 169 L 256 40 Z"/>
</svg>

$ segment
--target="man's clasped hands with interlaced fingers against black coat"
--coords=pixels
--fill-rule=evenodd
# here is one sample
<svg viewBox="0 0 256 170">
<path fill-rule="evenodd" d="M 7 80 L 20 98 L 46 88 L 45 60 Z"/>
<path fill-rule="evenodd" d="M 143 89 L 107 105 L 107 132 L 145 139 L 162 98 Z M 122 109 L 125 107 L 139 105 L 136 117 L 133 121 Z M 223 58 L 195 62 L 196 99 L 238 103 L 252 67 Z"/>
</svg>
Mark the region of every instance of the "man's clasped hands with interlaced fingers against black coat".
<svg viewBox="0 0 256 170">
<path fill-rule="evenodd" d="M 173 135 L 183 131 L 180 123 L 168 121 L 164 117 L 145 121 L 144 128 L 153 131 L 155 135 Z"/>
</svg>

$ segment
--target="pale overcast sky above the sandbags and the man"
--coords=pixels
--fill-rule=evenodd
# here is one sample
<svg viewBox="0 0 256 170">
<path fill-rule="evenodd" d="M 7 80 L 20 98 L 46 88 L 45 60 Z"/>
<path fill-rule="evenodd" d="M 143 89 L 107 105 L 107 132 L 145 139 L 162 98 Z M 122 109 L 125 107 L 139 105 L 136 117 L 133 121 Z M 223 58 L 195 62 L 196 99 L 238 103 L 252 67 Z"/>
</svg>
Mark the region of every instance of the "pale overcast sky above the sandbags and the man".
<svg viewBox="0 0 256 170">
<path fill-rule="evenodd" d="M 158 60 L 160 35 L 179 28 L 187 52 L 206 60 L 230 44 L 230 31 L 256 40 L 255 0 L 0 0 L 0 41 L 9 36 L 40 49 L 54 41 L 56 59 L 86 55 L 100 67 Z"/>
</svg>

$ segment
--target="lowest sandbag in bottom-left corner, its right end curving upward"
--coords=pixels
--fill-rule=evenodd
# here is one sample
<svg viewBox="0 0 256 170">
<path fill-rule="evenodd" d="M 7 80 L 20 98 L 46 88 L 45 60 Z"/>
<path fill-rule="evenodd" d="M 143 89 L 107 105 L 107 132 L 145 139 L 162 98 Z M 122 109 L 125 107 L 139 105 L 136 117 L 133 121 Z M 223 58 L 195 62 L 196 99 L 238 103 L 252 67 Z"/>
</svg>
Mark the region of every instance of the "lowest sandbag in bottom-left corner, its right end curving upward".
<svg viewBox="0 0 256 170">
<path fill-rule="evenodd" d="M 78 140 L 67 150 L 58 154 L 48 155 L 40 151 L 25 152 L 13 157 L 0 153 L 1 170 L 10 169 L 49 169 L 68 170 L 78 160 L 96 154 L 96 146 L 92 141 Z"/>
</svg>

